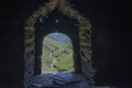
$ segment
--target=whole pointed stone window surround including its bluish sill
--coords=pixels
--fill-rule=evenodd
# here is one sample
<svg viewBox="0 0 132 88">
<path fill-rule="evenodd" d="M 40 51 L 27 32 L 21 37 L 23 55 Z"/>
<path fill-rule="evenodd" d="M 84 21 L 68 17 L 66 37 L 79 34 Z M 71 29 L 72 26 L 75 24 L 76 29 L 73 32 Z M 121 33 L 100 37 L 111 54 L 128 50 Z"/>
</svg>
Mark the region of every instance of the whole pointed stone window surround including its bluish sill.
<svg viewBox="0 0 132 88">
<path fill-rule="evenodd" d="M 59 18 L 57 16 L 57 18 L 51 19 L 52 21 L 46 21 L 46 19 L 50 19 L 51 15 L 54 15 L 54 12 L 56 12 L 56 10 L 64 18 L 65 25 L 63 26 L 59 26 L 59 23 L 62 23 L 61 22 L 62 20 L 59 20 L 59 18 L 62 15 L 59 15 Z M 76 21 L 76 22 L 74 23 L 73 21 L 74 22 Z M 50 26 L 44 28 L 45 25 L 41 25 L 43 24 L 43 22 L 45 22 L 45 25 L 50 25 Z M 53 22 L 53 23 L 47 24 L 48 22 Z M 36 11 L 33 12 L 32 15 L 29 16 L 29 19 L 26 19 L 24 29 L 25 29 L 25 41 L 24 41 L 24 46 L 25 46 L 24 68 L 25 69 L 24 69 L 24 80 L 23 80 L 24 88 L 45 88 L 45 86 L 46 88 L 62 88 L 64 85 L 75 81 L 73 79 L 79 78 L 77 79 L 77 81 L 81 80 L 84 76 L 88 80 L 88 82 L 86 84 L 87 85 L 86 88 L 89 88 L 89 86 L 91 87 L 91 85 L 94 85 L 92 77 L 94 77 L 95 70 L 92 68 L 92 63 L 91 63 L 91 53 L 92 53 L 91 24 L 88 19 L 84 18 L 82 14 L 80 14 L 77 10 L 73 9 L 67 0 L 50 0 L 50 2 L 45 3 L 45 6 L 43 7 L 40 7 Z M 45 82 L 46 75 L 41 75 L 42 74 L 41 58 L 42 58 L 43 36 L 50 33 L 54 33 L 56 31 L 59 33 L 66 34 L 67 36 L 70 37 L 73 42 L 74 69 L 76 73 L 76 75 L 75 73 L 74 75 L 73 73 L 63 73 L 63 74 L 58 73 L 57 77 L 54 76 L 55 80 L 56 79 L 59 80 L 61 78 L 61 82 L 54 81 L 54 84 L 56 82 L 58 85 L 62 85 L 62 87 L 56 87 L 58 85 L 53 85 L 53 84 L 52 86 L 55 86 L 55 87 L 51 87 L 51 84 L 43 84 Z M 80 76 L 80 74 L 84 76 Z M 47 76 L 50 76 L 48 78 L 51 78 L 51 75 L 47 75 Z M 62 79 L 62 76 L 63 76 L 63 79 Z M 68 80 L 70 79 L 70 81 L 68 81 L 67 78 Z M 62 84 L 62 80 L 63 80 L 63 84 Z M 31 85 L 33 87 L 31 87 Z M 69 88 L 69 87 L 66 87 L 66 88 Z M 78 88 L 78 84 L 76 84 L 75 87 L 70 87 L 70 88 Z M 84 87 L 80 87 L 80 88 L 84 88 Z"/>
</svg>

